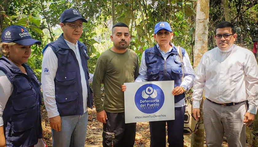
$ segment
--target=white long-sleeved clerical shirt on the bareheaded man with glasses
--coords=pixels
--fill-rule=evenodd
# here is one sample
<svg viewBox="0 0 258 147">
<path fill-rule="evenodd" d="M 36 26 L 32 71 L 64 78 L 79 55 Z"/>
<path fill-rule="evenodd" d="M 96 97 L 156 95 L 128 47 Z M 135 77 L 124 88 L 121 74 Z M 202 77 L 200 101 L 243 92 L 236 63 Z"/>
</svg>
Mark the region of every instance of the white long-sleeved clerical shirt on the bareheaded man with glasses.
<svg viewBox="0 0 258 147">
<path fill-rule="evenodd" d="M 206 52 L 198 65 L 193 85 L 193 108 L 200 108 L 205 97 L 216 103 L 248 100 L 248 112 L 258 107 L 258 66 L 251 51 L 233 45 L 224 51 L 218 47 Z"/>
</svg>

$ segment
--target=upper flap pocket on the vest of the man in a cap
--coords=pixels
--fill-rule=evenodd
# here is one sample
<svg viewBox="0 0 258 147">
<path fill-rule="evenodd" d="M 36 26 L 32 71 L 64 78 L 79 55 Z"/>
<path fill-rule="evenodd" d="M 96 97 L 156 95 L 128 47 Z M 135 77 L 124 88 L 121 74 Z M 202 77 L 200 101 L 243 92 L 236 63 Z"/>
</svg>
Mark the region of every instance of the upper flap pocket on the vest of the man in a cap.
<svg viewBox="0 0 258 147">
<path fill-rule="evenodd" d="M 56 84 L 57 85 L 71 85 L 75 83 L 76 73 L 73 72 L 59 72 L 56 74 Z"/>
</svg>

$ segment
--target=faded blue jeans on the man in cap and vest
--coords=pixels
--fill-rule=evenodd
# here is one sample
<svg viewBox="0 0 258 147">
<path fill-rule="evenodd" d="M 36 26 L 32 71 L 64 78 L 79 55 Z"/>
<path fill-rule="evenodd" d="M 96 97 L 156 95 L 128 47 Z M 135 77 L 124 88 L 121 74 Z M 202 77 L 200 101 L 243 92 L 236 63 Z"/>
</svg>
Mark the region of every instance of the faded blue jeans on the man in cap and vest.
<svg viewBox="0 0 258 147">
<path fill-rule="evenodd" d="M 52 129 L 53 147 L 84 147 L 88 111 L 83 115 L 62 116 L 61 131 Z"/>
</svg>

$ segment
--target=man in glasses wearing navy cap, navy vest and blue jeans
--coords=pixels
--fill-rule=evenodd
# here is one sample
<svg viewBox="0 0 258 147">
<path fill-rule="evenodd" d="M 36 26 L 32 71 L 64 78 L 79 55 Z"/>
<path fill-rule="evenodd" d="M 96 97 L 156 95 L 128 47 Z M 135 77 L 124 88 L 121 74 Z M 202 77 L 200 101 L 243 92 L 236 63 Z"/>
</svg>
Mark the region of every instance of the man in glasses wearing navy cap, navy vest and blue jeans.
<svg viewBox="0 0 258 147">
<path fill-rule="evenodd" d="M 52 128 L 53 147 L 84 147 L 88 107 L 92 108 L 93 74 L 88 70 L 88 51 L 79 41 L 82 18 L 76 9 L 60 17 L 61 36 L 43 49 L 42 91 Z"/>
</svg>

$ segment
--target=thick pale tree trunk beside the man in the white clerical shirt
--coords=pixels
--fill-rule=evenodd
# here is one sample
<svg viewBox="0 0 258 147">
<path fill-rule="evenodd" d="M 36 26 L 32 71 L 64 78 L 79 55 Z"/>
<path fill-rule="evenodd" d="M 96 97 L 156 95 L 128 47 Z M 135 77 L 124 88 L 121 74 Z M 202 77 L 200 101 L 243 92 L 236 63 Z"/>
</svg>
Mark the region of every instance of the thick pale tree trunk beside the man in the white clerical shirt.
<svg viewBox="0 0 258 147">
<path fill-rule="evenodd" d="M 195 39 L 194 39 L 194 60 L 193 69 L 196 72 L 202 55 L 208 51 L 208 30 L 209 30 L 209 0 L 197 0 L 196 20 L 195 20 Z M 191 147 L 203 147 L 204 144 L 204 124 L 202 103 L 200 106 L 201 117 L 199 119 L 198 131 L 192 134 Z"/>
</svg>

